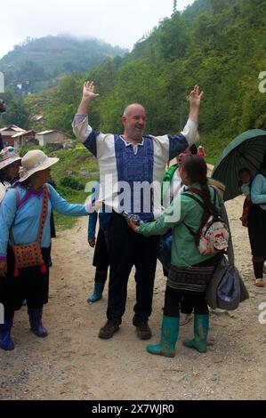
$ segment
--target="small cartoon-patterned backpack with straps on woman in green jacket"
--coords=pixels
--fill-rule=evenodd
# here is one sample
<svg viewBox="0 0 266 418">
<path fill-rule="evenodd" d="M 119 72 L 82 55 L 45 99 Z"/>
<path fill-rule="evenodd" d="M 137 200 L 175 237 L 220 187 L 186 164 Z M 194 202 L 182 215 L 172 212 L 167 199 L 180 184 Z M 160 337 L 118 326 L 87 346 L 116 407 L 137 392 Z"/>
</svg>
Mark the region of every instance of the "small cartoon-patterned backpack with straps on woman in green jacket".
<svg viewBox="0 0 266 418">
<path fill-rule="evenodd" d="M 189 189 L 189 191 L 201 196 L 200 191 L 197 189 Z M 230 230 L 226 222 L 222 220 L 222 217 L 219 215 L 219 213 L 217 213 L 215 208 L 216 193 L 217 192 L 214 189 L 214 205 L 211 206 L 209 211 L 210 216 L 200 231 L 199 244 L 197 246 L 199 253 L 204 255 L 223 252 L 229 245 Z M 204 203 L 201 202 L 201 200 L 199 200 L 197 197 L 189 193 L 183 193 L 183 195 L 192 198 L 204 209 L 206 208 Z M 193 230 L 186 223 L 184 223 L 184 225 L 187 229 L 189 229 L 189 233 L 195 237 L 197 233 L 193 232 Z"/>
</svg>

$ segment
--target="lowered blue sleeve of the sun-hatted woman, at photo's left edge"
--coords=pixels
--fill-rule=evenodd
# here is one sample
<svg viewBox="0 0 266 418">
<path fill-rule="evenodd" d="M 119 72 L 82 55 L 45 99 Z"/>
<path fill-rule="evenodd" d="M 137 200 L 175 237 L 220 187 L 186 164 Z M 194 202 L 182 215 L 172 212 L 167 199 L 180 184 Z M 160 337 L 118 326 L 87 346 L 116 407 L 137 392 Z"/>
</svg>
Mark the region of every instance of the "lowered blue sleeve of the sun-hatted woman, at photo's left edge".
<svg viewBox="0 0 266 418">
<path fill-rule="evenodd" d="M 9 240 L 9 230 L 15 219 L 17 211 L 17 197 L 14 189 L 8 190 L 0 205 L 0 261 L 6 258 L 6 249 Z"/>
</svg>

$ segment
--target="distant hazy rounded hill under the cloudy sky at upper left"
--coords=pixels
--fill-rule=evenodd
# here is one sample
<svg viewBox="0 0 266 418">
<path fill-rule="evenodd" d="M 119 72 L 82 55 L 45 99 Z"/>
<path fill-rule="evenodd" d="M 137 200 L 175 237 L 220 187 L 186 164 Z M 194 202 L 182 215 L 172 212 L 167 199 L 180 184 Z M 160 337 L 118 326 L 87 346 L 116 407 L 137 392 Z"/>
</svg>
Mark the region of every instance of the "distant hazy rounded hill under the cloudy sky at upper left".
<svg viewBox="0 0 266 418">
<path fill-rule="evenodd" d="M 73 71 L 89 71 L 107 57 L 124 55 L 125 50 L 98 39 L 73 36 L 27 38 L 0 60 L 6 87 L 13 91 L 37 92 L 59 84 Z"/>
</svg>

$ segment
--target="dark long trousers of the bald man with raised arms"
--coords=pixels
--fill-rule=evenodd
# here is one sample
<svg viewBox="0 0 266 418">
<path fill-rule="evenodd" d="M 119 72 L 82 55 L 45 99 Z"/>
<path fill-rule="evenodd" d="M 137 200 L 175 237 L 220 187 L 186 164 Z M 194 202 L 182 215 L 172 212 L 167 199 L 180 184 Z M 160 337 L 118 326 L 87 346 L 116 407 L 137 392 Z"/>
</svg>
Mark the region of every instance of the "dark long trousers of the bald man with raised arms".
<svg viewBox="0 0 266 418">
<path fill-rule="evenodd" d="M 144 237 L 133 232 L 121 215 L 113 213 L 109 225 L 107 318 L 120 320 L 125 313 L 128 277 L 135 266 L 136 304 L 133 325 L 148 320 L 152 309 L 158 245 L 159 237 Z"/>
</svg>

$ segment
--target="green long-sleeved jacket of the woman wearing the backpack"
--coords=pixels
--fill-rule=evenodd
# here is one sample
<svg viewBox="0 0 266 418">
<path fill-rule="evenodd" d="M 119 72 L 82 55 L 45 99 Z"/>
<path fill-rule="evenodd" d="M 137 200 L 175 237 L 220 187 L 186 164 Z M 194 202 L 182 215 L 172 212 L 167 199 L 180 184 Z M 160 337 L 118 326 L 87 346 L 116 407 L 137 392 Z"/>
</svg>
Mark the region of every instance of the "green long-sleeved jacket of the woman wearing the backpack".
<svg viewBox="0 0 266 418">
<path fill-rule="evenodd" d="M 191 184 L 191 188 L 200 189 L 198 183 Z M 211 200 L 214 203 L 214 189 L 209 187 Z M 187 190 L 189 192 L 189 188 Z M 197 196 L 198 199 L 201 197 Z M 221 213 L 219 200 L 216 198 L 216 208 Z M 194 237 L 184 222 L 196 233 L 200 227 L 203 208 L 192 198 L 179 195 L 157 221 L 145 222 L 139 232 L 145 237 L 151 235 L 164 235 L 168 229 L 172 229 L 173 243 L 171 251 L 171 263 L 177 267 L 188 267 L 202 261 L 206 261 L 214 254 L 202 255 L 197 249 Z"/>
</svg>

